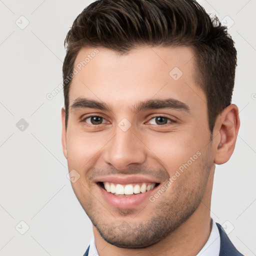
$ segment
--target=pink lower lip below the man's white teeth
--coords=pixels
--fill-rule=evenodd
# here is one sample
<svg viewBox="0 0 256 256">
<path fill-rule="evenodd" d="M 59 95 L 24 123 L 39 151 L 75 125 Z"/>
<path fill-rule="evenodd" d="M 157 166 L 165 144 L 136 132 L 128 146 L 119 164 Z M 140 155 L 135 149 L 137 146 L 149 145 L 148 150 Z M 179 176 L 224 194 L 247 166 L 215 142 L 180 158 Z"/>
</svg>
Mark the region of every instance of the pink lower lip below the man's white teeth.
<svg viewBox="0 0 256 256">
<path fill-rule="evenodd" d="M 155 187 L 144 193 L 133 194 L 130 196 L 118 196 L 107 192 L 104 188 L 98 185 L 103 198 L 115 208 L 131 209 L 141 204 L 144 200 L 148 199 Z M 148 199 L 149 201 L 149 199 Z"/>
</svg>

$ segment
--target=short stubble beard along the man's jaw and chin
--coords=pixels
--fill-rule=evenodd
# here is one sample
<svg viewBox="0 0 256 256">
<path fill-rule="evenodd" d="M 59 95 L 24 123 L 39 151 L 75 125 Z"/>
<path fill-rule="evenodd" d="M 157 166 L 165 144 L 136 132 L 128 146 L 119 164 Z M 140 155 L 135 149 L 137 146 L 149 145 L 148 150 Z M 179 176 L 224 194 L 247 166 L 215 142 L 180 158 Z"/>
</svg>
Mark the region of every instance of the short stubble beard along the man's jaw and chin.
<svg viewBox="0 0 256 256">
<path fill-rule="evenodd" d="M 189 178 L 191 173 L 180 175 L 174 189 L 171 185 L 154 202 L 148 200 L 141 212 L 137 213 L 136 209 L 116 209 L 110 214 L 95 197 L 89 195 L 85 199 L 78 194 L 76 197 L 106 242 L 121 248 L 145 248 L 170 235 L 197 209 L 204 195 L 211 166 L 208 159 L 202 159 L 191 170 L 192 173 L 199 172 L 195 178 Z M 189 169 L 186 171 L 190 172 Z M 138 221 L 137 217 L 141 219 L 141 214 L 146 210 L 152 214 L 144 221 Z M 130 217 L 132 215 L 134 218 Z M 126 221 L 127 217 L 132 220 Z"/>
</svg>

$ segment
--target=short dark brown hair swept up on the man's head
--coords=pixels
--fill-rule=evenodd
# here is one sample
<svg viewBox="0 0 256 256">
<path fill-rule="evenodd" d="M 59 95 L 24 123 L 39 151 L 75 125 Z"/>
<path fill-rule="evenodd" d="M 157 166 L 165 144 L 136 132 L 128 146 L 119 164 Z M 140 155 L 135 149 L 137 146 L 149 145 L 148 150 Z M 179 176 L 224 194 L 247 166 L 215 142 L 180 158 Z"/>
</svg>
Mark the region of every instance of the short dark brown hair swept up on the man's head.
<svg viewBox="0 0 256 256">
<path fill-rule="evenodd" d="M 231 103 L 236 49 L 217 17 L 194 0 L 97 0 L 75 18 L 64 45 L 63 91 L 67 127 L 68 92 L 74 61 L 82 47 L 120 54 L 136 46 L 192 46 L 198 83 L 206 95 L 212 133 L 217 115 Z"/>
</svg>

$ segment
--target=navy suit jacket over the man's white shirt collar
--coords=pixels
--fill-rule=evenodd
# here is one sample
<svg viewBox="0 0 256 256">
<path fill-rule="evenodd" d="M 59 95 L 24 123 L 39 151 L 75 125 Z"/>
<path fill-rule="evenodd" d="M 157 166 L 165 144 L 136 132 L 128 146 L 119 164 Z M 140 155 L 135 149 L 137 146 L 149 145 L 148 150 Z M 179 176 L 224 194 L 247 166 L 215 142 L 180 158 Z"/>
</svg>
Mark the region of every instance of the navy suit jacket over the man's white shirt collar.
<svg viewBox="0 0 256 256">
<path fill-rule="evenodd" d="M 216 223 L 220 236 L 220 250 L 219 256 L 243 256 L 231 243 L 224 229 L 219 223 Z M 83 256 L 88 256 L 89 247 L 83 254 Z"/>
</svg>

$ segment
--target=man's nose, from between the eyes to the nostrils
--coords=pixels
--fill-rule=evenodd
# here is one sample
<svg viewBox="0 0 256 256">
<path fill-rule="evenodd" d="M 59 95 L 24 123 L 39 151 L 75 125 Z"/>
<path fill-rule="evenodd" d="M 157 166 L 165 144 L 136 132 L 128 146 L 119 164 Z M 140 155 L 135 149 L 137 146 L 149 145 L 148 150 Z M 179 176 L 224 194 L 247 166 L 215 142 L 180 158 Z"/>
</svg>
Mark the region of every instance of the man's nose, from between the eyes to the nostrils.
<svg viewBox="0 0 256 256">
<path fill-rule="evenodd" d="M 103 159 L 116 169 L 125 170 L 145 161 L 146 147 L 132 127 L 123 131 L 117 126 L 115 135 L 105 147 Z"/>
</svg>

